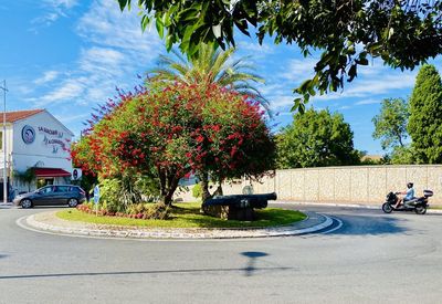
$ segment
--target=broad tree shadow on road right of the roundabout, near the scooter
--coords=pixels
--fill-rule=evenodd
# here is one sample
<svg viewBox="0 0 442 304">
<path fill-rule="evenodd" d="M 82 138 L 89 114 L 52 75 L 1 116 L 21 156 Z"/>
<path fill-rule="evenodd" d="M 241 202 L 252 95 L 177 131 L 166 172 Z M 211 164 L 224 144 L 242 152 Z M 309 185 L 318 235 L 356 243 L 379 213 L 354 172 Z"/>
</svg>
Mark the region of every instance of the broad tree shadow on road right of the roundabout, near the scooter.
<svg viewBox="0 0 442 304">
<path fill-rule="evenodd" d="M 335 214 L 334 214 L 335 216 Z M 368 217 L 336 214 L 343 221 L 343 227 L 328 234 L 344 235 L 380 235 L 404 233 L 408 229 L 402 224 L 404 219 L 393 217 Z"/>
</svg>

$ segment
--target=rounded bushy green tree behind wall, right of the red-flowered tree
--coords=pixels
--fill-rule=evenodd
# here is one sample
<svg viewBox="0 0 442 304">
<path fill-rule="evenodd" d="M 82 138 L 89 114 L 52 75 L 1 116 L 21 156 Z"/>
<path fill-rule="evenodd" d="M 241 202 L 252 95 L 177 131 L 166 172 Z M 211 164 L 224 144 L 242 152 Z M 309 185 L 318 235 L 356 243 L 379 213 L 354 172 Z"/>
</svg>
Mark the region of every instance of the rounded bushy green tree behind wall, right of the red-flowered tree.
<svg viewBox="0 0 442 304">
<path fill-rule="evenodd" d="M 280 168 L 359 164 L 350 125 L 341 114 L 311 108 L 295 114 L 293 124 L 276 137 Z"/>
</svg>

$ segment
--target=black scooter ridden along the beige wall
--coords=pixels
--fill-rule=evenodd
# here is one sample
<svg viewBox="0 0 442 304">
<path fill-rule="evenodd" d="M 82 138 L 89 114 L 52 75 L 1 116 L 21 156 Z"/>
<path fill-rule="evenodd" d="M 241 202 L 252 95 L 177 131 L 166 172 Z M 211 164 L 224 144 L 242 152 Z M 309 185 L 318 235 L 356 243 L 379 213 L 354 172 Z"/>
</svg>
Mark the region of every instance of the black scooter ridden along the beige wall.
<svg viewBox="0 0 442 304">
<path fill-rule="evenodd" d="M 428 199 L 433 196 L 433 191 L 423 190 L 423 197 L 413 198 L 401 206 L 394 208 L 398 202 L 398 195 L 400 192 L 390 192 L 387 195 L 387 201 L 382 205 L 382 211 L 386 213 L 391 213 L 391 211 L 414 211 L 417 214 L 425 214 L 428 205 Z"/>
</svg>

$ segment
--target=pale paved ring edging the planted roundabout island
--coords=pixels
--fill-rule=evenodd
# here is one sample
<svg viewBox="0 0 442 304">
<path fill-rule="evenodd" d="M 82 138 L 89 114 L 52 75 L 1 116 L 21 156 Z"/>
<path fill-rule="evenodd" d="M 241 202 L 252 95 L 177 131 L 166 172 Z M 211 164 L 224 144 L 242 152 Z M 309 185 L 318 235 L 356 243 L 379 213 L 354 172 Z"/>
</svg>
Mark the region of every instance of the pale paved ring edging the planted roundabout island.
<svg viewBox="0 0 442 304">
<path fill-rule="evenodd" d="M 78 237 L 103 237 L 119 239 L 240 239 L 288 237 L 313 233 L 330 227 L 334 221 L 327 216 L 306 212 L 307 219 L 292 226 L 251 229 L 203 229 L 203 228 L 134 228 L 66 221 L 55 216 L 57 211 L 41 212 L 18 220 L 25 229 Z"/>
</svg>

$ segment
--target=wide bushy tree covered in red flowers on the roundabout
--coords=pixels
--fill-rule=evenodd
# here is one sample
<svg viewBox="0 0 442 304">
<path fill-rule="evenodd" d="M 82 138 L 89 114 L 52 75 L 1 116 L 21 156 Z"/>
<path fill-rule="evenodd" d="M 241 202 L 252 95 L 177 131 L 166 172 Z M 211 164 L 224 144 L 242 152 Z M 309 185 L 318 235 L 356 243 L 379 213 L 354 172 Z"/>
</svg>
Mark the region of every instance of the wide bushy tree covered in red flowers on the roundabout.
<svg viewBox="0 0 442 304">
<path fill-rule="evenodd" d="M 274 143 L 257 102 L 217 84 L 175 83 L 126 95 L 74 145 L 83 169 L 103 177 L 155 174 L 166 203 L 181 178 L 213 180 L 273 168 Z"/>
</svg>

